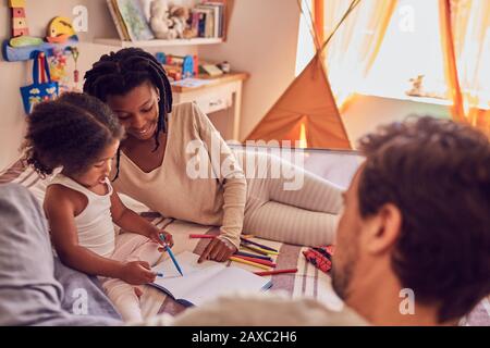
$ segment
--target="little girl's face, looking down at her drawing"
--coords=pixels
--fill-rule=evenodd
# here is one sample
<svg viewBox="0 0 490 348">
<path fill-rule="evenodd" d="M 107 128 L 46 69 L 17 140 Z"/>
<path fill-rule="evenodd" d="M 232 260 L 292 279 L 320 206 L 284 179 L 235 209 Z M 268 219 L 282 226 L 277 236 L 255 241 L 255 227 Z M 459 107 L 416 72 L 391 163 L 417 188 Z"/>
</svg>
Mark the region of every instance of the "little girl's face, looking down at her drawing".
<svg viewBox="0 0 490 348">
<path fill-rule="evenodd" d="M 99 158 L 90 164 L 83 173 L 70 175 L 75 182 L 87 188 L 105 184 L 112 167 L 112 160 L 118 153 L 120 141 L 114 140 L 106 147 Z"/>
</svg>

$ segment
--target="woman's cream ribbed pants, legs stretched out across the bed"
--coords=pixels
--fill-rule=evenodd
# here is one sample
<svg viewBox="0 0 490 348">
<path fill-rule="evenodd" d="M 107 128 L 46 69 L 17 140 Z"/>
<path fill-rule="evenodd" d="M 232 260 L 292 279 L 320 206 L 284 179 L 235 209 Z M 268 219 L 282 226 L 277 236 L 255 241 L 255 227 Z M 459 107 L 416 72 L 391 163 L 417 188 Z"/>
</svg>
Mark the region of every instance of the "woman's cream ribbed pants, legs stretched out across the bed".
<svg viewBox="0 0 490 348">
<path fill-rule="evenodd" d="M 334 243 L 342 189 L 279 157 L 256 153 L 255 160 L 267 163 L 268 175 L 247 178 L 247 203 L 243 232 L 282 243 L 319 246 Z M 246 165 L 246 161 L 244 162 Z M 283 176 L 273 178 L 271 167 L 281 167 L 287 177 L 303 177 L 295 190 L 285 189 Z M 256 166 L 257 167 L 257 166 Z M 291 175 L 291 176 L 290 176 Z"/>
</svg>

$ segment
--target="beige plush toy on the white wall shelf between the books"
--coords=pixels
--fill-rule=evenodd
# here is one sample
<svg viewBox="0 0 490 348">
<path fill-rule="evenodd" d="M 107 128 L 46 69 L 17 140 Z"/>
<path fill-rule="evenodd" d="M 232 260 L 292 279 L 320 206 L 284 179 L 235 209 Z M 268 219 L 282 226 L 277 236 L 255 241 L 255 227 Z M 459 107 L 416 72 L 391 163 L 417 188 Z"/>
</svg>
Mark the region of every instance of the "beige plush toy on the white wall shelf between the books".
<svg viewBox="0 0 490 348">
<path fill-rule="evenodd" d="M 167 0 L 151 2 L 150 25 L 155 36 L 159 39 L 187 38 L 187 17 L 188 10 L 186 8 L 169 4 Z"/>
</svg>

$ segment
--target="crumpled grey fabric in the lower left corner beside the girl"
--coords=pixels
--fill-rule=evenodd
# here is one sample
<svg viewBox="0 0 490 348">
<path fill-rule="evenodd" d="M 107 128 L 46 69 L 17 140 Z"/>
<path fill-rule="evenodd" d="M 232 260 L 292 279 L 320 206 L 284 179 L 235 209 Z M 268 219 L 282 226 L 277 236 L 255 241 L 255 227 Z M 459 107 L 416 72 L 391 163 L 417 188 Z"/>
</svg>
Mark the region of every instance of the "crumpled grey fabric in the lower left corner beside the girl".
<svg viewBox="0 0 490 348">
<path fill-rule="evenodd" d="M 86 275 L 56 263 L 38 201 L 19 185 L 0 186 L 0 325 L 118 325 L 110 302 Z M 65 287 L 54 277 L 64 279 Z M 79 289 L 79 312 L 68 297 Z M 68 293 L 65 293 L 69 290 Z M 98 303 L 97 309 L 90 301 Z M 100 302 L 103 302 L 101 306 Z M 93 308 L 89 313 L 85 309 Z M 88 315 L 90 314 L 90 315 Z M 100 316 L 99 316 L 100 315 Z"/>
</svg>

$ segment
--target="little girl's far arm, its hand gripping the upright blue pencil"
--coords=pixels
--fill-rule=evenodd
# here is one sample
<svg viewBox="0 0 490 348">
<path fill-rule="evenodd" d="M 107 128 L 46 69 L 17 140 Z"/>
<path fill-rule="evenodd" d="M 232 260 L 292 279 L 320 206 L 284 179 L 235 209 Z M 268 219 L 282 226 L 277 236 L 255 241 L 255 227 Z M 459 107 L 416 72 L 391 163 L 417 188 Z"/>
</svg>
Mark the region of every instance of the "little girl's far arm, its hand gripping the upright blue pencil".
<svg viewBox="0 0 490 348">
<path fill-rule="evenodd" d="M 163 244 L 163 241 L 160 239 L 160 235 L 162 234 L 166 237 L 166 243 L 171 248 L 173 247 L 172 235 L 159 229 L 157 226 L 139 216 L 133 210 L 127 209 L 127 207 L 125 207 L 121 201 L 121 198 L 119 197 L 115 189 L 111 196 L 111 214 L 114 224 L 120 226 L 122 229 L 143 235 L 158 244 Z"/>
</svg>

